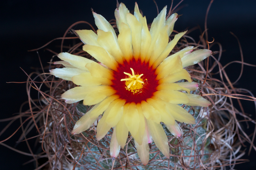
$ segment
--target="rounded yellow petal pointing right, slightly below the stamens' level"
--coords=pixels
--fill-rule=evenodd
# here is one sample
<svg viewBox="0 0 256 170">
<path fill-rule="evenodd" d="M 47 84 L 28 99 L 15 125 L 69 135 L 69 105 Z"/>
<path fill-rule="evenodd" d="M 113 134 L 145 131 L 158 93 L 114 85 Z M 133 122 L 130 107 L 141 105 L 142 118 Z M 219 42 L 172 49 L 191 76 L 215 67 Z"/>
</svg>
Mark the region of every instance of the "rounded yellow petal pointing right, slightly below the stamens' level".
<svg viewBox="0 0 256 170">
<path fill-rule="evenodd" d="M 153 95 L 172 104 L 186 104 L 189 102 L 186 93 L 174 90 L 160 90 L 154 92 Z"/>
</svg>

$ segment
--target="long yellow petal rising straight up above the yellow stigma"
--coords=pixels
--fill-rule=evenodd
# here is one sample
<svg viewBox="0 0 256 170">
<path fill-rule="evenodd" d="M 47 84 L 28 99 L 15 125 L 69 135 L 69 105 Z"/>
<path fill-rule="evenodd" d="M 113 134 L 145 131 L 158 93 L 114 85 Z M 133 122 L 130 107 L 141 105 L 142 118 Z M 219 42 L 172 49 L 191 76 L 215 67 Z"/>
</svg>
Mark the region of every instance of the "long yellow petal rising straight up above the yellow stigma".
<svg viewBox="0 0 256 170">
<path fill-rule="evenodd" d="M 140 44 L 141 44 L 141 29 L 142 25 L 137 20 L 137 18 L 131 13 L 127 13 L 126 15 L 127 22 L 132 31 L 132 49 L 133 49 L 133 57 L 135 61 L 138 61 L 140 56 Z"/>
</svg>

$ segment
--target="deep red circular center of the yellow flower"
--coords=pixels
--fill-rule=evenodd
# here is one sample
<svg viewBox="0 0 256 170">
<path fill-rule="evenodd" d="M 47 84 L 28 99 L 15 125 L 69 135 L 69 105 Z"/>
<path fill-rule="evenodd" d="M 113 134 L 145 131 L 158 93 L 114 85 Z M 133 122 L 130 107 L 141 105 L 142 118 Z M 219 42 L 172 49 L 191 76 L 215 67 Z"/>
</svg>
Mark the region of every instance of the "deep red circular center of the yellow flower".
<svg viewBox="0 0 256 170">
<path fill-rule="evenodd" d="M 158 81 L 156 80 L 155 70 L 152 70 L 151 67 L 148 67 L 148 63 L 141 63 L 140 60 L 136 62 L 133 59 L 130 61 L 130 63 L 125 61 L 124 64 L 119 64 L 117 69 L 117 71 L 114 71 L 112 87 L 117 91 L 116 94 L 119 95 L 120 98 L 125 99 L 127 103 L 140 103 L 142 100 L 146 101 L 146 99 L 151 98 L 153 93 L 156 92 Z M 140 83 L 140 81 L 135 81 L 136 84 L 134 85 L 132 80 L 121 81 L 121 79 L 130 78 L 125 73 L 132 75 L 132 70 L 134 70 L 136 77 L 143 74 L 139 79 L 144 82 L 143 84 Z M 131 82 L 132 85 L 130 85 Z"/>
</svg>

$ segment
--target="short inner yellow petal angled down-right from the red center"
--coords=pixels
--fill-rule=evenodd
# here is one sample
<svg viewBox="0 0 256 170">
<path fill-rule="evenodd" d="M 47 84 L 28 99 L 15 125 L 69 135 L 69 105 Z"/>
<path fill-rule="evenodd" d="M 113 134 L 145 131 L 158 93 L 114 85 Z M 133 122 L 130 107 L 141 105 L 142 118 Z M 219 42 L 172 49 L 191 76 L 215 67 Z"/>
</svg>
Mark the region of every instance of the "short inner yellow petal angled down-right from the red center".
<svg viewBox="0 0 256 170">
<path fill-rule="evenodd" d="M 161 122 L 161 115 L 158 110 L 156 110 L 153 106 L 148 104 L 146 101 L 141 101 L 141 107 L 143 111 L 143 115 L 148 120 L 155 121 L 156 123 Z"/>
</svg>

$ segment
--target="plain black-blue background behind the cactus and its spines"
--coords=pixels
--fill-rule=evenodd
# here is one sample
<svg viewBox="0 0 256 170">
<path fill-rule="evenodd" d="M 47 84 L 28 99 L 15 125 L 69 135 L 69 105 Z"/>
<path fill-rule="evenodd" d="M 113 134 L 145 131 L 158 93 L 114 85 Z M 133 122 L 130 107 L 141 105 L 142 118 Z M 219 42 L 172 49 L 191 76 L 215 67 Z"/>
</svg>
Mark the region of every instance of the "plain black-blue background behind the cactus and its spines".
<svg viewBox="0 0 256 170">
<path fill-rule="evenodd" d="M 123 0 L 127 8 L 132 11 L 134 9 L 134 2 L 129 0 Z M 173 7 L 180 1 L 174 0 Z M 156 6 L 152 0 L 137 0 L 139 8 L 143 11 L 143 14 L 147 17 L 148 23 L 151 23 L 157 15 Z M 163 9 L 165 5 L 169 7 L 171 0 L 156 0 L 159 11 Z M 182 7 L 178 14 L 183 14 L 175 23 L 174 29 L 177 31 L 183 31 L 186 29 L 200 26 L 204 30 L 204 18 L 207 7 L 210 0 L 185 0 L 179 6 Z M 222 65 L 231 61 L 241 61 L 240 51 L 238 43 L 233 35 L 229 32 L 233 32 L 239 38 L 243 49 L 244 62 L 256 64 L 255 57 L 255 27 L 256 27 L 256 1 L 255 0 L 215 0 L 212 3 L 208 20 L 207 28 L 209 41 L 212 41 L 211 37 L 214 37 L 215 41 L 221 43 L 222 48 L 226 50 L 222 54 L 220 62 Z M 26 81 L 27 76 L 20 69 L 24 69 L 28 74 L 34 71 L 33 67 L 40 67 L 38 55 L 36 52 L 28 52 L 27 50 L 39 48 L 48 41 L 54 38 L 62 37 L 66 29 L 76 21 L 87 21 L 91 23 L 95 28 L 91 9 L 107 20 L 114 18 L 114 10 L 116 8 L 116 1 L 49 1 L 49 0 L 36 0 L 36 1 L 21 1 L 21 0 L 9 0 L 0 6 L 0 69 L 1 69 L 1 114 L 0 119 L 12 117 L 19 112 L 20 105 L 27 101 L 27 93 L 25 84 L 7 84 L 10 81 Z M 74 26 L 74 29 L 90 29 L 85 24 Z M 196 30 L 189 34 L 196 41 L 199 40 L 200 31 Z M 69 35 L 68 35 L 69 36 Z M 54 41 L 48 47 L 56 49 L 56 45 L 60 45 L 60 40 Z M 65 41 L 66 42 L 66 41 Z M 70 42 L 70 41 L 69 41 Z M 72 44 L 71 44 L 72 45 Z M 216 50 L 218 50 L 216 46 Z M 47 62 L 50 61 L 52 53 L 45 51 L 44 48 L 40 49 L 39 55 L 42 60 L 43 66 L 47 66 Z M 56 60 L 55 60 L 56 61 Z M 241 70 L 241 64 L 233 63 L 227 68 L 227 73 L 232 82 L 234 82 Z M 235 87 L 245 88 L 250 90 L 253 94 L 256 94 L 255 88 L 255 67 L 244 66 L 244 73 Z M 34 98 L 37 96 L 37 92 L 32 94 Z M 252 114 L 252 118 L 255 120 L 255 106 L 253 102 L 243 102 L 246 113 Z M 25 106 L 27 108 L 27 106 Z M 23 109 L 22 111 L 25 111 Z M 1 122 L 1 129 L 6 126 L 8 122 Z M 9 137 L 20 125 L 19 121 L 14 122 L 12 126 L 1 135 L 0 140 L 4 140 Z M 246 129 L 247 134 L 250 134 L 254 130 L 252 123 L 250 128 Z M 18 130 L 17 135 L 14 135 L 11 139 L 4 143 L 14 147 L 15 142 L 18 140 L 21 130 Z M 32 130 L 28 136 L 36 135 L 36 131 Z M 35 140 L 30 140 L 31 147 L 34 153 L 36 149 L 33 148 Z M 249 144 L 246 148 L 246 155 L 242 158 L 250 159 L 251 161 L 245 164 L 239 164 L 235 166 L 236 169 L 255 167 L 256 153 L 252 150 L 251 155 L 248 157 Z M 255 142 L 254 142 L 255 144 Z M 25 142 L 22 142 L 15 146 L 16 149 L 23 152 L 28 152 Z M 14 152 L 2 145 L 0 145 L 0 166 L 1 169 L 34 169 L 34 164 L 29 163 L 22 165 L 23 163 L 32 159 L 30 156 L 24 156 L 20 153 Z"/>
</svg>

